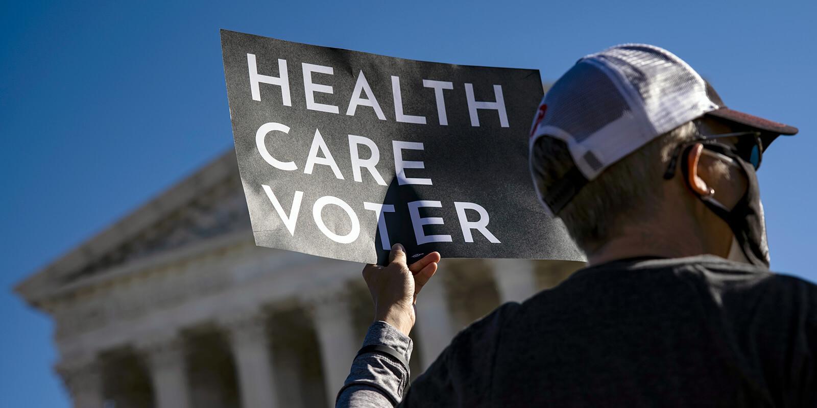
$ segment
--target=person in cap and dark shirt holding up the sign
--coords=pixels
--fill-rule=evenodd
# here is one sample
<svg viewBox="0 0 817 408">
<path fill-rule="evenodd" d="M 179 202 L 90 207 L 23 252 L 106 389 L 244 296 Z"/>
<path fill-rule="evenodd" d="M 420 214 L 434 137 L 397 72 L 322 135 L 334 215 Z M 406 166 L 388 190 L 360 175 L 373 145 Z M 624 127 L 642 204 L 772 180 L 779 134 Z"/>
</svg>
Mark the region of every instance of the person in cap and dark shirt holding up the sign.
<svg viewBox="0 0 817 408">
<path fill-rule="evenodd" d="M 659 47 L 587 55 L 530 139 L 538 196 L 587 268 L 462 330 L 408 387 L 440 257 L 407 266 L 395 246 L 364 268 L 376 322 L 337 405 L 817 406 L 817 288 L 768 270 L 755 175 L 795 133 L 725 108 Z"/>
</svg>

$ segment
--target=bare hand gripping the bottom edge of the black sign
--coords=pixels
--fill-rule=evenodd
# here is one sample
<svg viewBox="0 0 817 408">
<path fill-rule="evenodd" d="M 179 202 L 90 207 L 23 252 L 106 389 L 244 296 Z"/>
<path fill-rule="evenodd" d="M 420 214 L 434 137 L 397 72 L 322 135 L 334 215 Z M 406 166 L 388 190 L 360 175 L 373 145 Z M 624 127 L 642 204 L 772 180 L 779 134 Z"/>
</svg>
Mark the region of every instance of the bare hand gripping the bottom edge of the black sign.
<svg viewBox="0 0 817 408">
<path fill-rule="evenodd" d="M 431 252 L 407 265 L 405 249 L 391 247 L 388 266 L 369 264 L 363 269 L 368 290 L 374 301 L 374 320 L 395 326 L 408 335 L 417 319 L 417 294 L 437 271 L 440 253 Z"/>
</svg>

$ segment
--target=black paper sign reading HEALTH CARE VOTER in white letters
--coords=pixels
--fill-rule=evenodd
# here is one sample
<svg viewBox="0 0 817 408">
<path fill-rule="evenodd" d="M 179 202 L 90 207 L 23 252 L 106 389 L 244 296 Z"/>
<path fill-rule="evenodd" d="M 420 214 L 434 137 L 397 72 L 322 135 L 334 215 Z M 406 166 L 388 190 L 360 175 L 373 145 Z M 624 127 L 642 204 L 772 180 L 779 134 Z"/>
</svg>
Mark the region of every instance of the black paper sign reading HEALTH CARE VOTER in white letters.
<svg viewBox="0 0 817 408">
<path fill-rule="evenodd" d="M 235 153 L 259 246 L 384 263 L 583 259 L 539 204 L 534 69 L 404 60 L 221 31 Z"/>
</svg>

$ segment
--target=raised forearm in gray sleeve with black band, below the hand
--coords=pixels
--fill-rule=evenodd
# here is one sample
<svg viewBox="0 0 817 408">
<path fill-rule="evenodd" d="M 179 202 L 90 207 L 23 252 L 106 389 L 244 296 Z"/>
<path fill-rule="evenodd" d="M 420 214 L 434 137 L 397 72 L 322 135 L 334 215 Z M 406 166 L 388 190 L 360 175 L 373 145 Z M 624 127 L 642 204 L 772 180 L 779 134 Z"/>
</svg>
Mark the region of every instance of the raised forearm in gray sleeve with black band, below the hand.
<svg viewBox="0 0 817 408">
<path fill-rule="evenodd" d="M 378 344 L 394 349 L 405 361 L 411 358 L 412 340 L 386 322 L 369 326 L 364 346 Z M 397 405 L 403 398 L 410 373 L 394 357 L 364 353 L 352 362 L 344 388 L 337 396 L 336 407 L 380 408 Z"/>
</svg>

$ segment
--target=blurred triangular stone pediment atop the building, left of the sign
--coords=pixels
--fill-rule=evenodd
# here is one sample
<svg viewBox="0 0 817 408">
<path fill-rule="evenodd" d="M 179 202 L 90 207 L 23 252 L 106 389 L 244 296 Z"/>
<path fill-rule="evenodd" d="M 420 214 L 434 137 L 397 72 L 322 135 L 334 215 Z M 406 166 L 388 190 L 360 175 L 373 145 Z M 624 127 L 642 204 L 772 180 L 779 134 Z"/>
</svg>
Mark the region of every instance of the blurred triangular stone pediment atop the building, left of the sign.
<svg viewBox="0 0 817 408">
<path fill-rule="evenodd" d="M 121 265 L 240 231 L 251 234 L 251 227 L 230 149 L 20 282 L 16 291 L 37 306 L 66 286 L 77 286 Z"/>
</svg>

